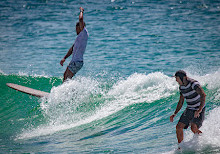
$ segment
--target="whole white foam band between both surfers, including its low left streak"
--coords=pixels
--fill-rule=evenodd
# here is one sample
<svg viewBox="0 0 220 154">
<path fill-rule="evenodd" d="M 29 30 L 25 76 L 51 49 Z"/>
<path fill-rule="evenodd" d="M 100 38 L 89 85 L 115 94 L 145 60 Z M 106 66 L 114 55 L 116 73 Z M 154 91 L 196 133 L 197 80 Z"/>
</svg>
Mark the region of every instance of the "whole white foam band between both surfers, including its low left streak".
<svg viewBox="0 0 220 154">
<path fill-rule="evenodd" d="M 47 100 L 41 103 L 49 122 L 30 128 L 18 139 L 52 134 L 107 117 L 135 103 L 151 103 L 172 95 L 178 88 L 175 80 L 163 73 L 133 74 L 117 82 L 106 92 L 101 83 L 90 78 L 76 78 L 51 90 Z M 102 95 L 101 104 L 96 95 Z"/>
</svg>

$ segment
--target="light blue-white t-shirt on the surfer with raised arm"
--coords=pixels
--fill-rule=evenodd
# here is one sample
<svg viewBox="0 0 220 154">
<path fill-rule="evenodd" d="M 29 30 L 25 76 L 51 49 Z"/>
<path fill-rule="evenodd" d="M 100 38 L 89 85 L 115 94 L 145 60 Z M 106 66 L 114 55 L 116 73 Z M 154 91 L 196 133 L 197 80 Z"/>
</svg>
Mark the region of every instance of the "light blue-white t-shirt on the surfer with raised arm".
<svg viewBox="0 0 220 154">
<path fill-rule="evenodd" d="M 74 42 L 73 57 L 71 62 L 83 61 L 83 54 L 86 50 L 88 37 L 89 33 L 86 27 L 84 27 L 84 29 L 79 33 Z"/>
</svg>

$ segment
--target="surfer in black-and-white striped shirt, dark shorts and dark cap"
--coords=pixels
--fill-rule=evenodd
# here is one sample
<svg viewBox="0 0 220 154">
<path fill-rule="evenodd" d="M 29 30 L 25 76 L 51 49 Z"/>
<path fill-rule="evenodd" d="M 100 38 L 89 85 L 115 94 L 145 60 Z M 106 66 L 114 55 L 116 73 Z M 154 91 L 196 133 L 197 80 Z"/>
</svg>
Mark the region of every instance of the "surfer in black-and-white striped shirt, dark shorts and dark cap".
<svg viewBox="0 0 220 154">
<path fill-rule="evenodd" d="M 202 133 L 199 128 L 202 126 L 205 117 L 206 94 L 199 82 L 188 78 L 185 71 L 177 71 L 175 78 L 180 85 L 180 99 L 174 114 L 170 116 L 171 122 L 173 122 L 174 117 L 182 108 L 184 99 L 186 99 L 187 103 L 187 108 L 176 125 L 177 140 L 180 144 L 183 141 L 183 129 L 187 129 L 189 125 L 191 125 L 191 130 L 194 134 Z"/>
</svg>

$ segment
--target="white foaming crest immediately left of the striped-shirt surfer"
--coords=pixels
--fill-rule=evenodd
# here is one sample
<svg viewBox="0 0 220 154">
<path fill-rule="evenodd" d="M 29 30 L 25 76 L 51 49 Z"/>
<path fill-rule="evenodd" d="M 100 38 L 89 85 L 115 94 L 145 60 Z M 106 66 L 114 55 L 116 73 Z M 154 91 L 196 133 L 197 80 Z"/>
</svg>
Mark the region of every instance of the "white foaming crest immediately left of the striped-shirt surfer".
<svg viewBox="0 0 220 154">
<path fill-rule="evenodd" d="M 115 84 L 108 95 L 116 97 L 117 101 L 122 99 L 130 104 L 151 103 L 170 96 L 177 88 L 175 80 L 161 72 L 148 75 L 135 73 Z"/>
</svg>

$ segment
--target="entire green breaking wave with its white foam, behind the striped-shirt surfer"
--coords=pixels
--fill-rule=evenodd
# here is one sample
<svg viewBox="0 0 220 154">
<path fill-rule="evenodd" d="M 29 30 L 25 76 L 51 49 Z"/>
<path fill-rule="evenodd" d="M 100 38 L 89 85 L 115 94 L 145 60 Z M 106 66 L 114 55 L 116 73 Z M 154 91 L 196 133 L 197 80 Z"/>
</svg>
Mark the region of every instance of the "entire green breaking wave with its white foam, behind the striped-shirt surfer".
<svg viewBox="0 0 220 154">
<path fill-rule="evenodd" d="M 199 139 L 190 130 L 185 132 L 187 152 L 219 150 L 219 74 L 192 75 L 205 89 L 207 112 Z M 48 91 L 43 86 L 47 84 L 50 95 L 37 99 L 5 86 L 16 81 L 43 91 Z M 1 82 L 4 146 L 10 141 L 15 147 L 36 146 L 33 152 L 48 152 L 53 147 L 58 151 L 62 147 L 62 152 L 175 152 L 180 113 L 174 123 L 169 116 L 178 102 L 178 85 L 162 72 L 135 73 L 115 81 L 78 76 L 64 84 L 60 78 L 2 74 Z M 46 150 L 40 148 L 45 146 Z"/>
</svg>

